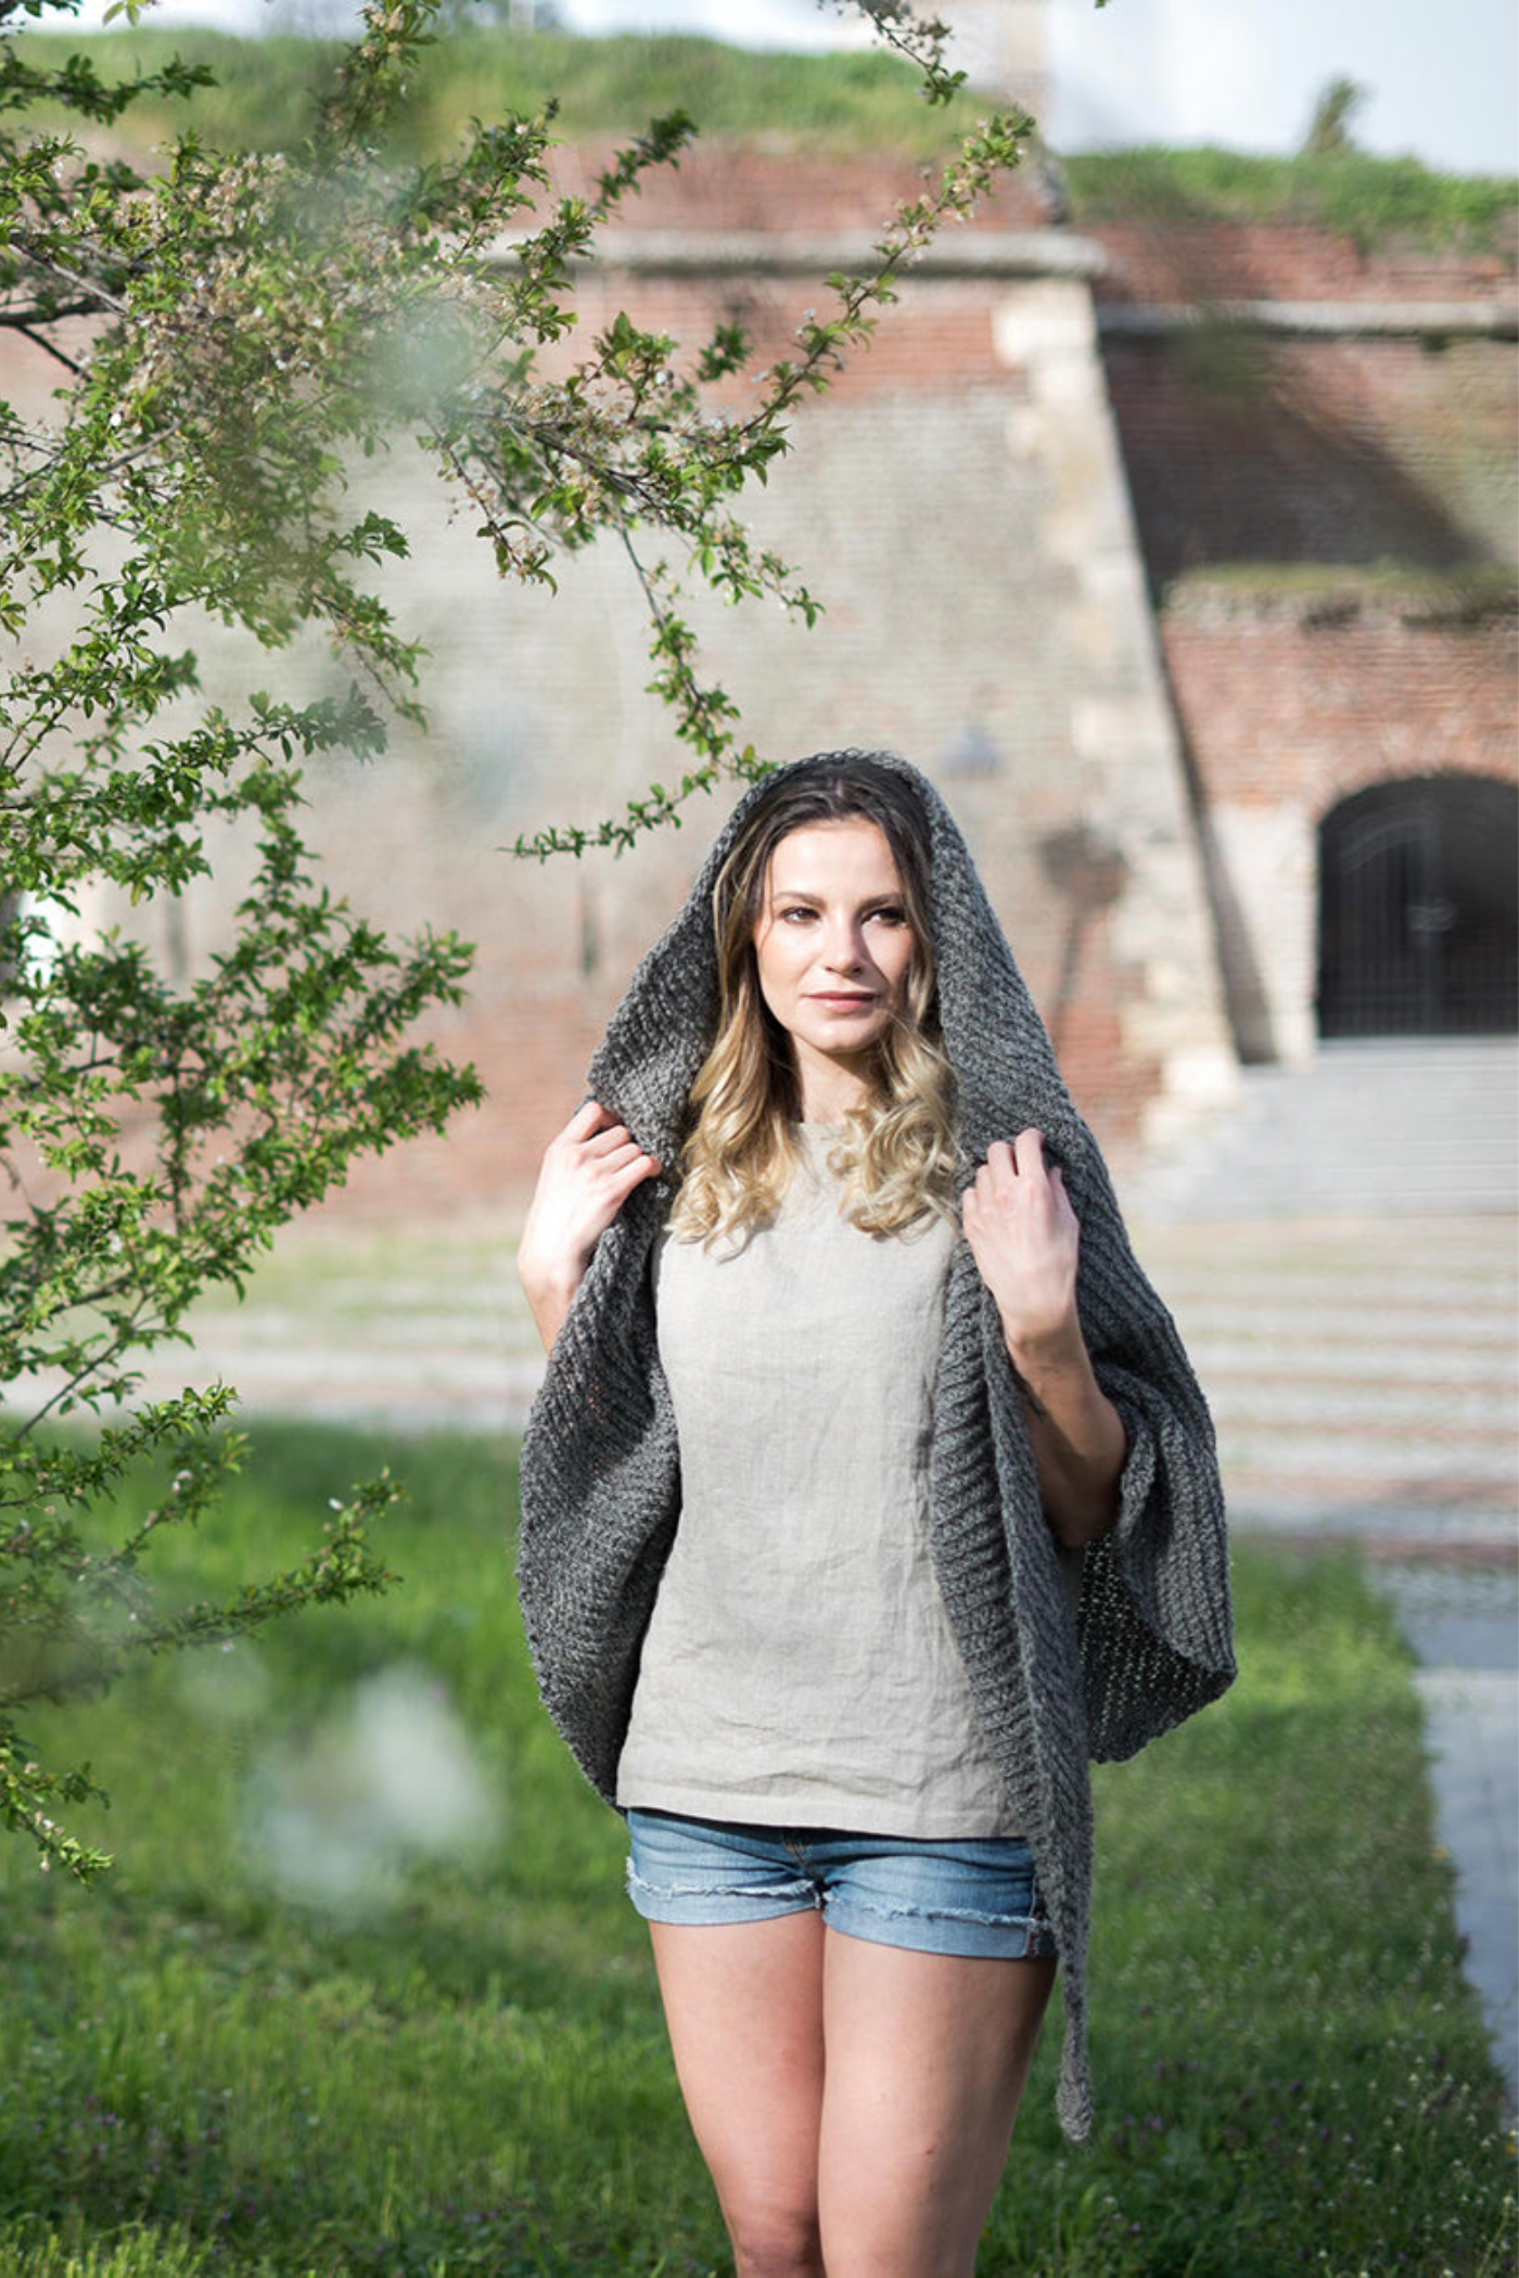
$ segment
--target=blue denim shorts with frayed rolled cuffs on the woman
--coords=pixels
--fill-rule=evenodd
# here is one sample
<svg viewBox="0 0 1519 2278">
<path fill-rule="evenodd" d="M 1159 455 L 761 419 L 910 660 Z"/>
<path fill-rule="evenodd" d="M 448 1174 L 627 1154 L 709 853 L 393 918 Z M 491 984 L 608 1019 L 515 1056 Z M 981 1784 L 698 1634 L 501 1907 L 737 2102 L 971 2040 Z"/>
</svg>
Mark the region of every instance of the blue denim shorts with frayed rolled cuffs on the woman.
<svg viewBox="0 0 1519 2278">
<path fill-rule="evenodd" d="M 629 1811 L 629 1898 L 649 1923 L 818 1911 L 849 1939 L 918 1955 L 1032 1961 L 1054 1952 L 1034 1854 L 1018 1836 L 856 1836 L 674 1811 Z"/>
</svg>

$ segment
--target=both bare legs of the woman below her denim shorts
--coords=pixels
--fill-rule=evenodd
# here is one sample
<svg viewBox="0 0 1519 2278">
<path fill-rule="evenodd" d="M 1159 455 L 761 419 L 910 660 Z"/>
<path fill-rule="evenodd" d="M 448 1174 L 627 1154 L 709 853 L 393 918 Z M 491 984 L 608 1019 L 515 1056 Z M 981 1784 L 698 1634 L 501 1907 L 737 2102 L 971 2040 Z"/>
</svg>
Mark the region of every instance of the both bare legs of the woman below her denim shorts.
<svg viewBox="0 0 1519 2278">
<path fill-rule="evenodd" d="M 738 2278 L 970 2278 L 1054 1961 L 649 1927 Z"/>
</svg>

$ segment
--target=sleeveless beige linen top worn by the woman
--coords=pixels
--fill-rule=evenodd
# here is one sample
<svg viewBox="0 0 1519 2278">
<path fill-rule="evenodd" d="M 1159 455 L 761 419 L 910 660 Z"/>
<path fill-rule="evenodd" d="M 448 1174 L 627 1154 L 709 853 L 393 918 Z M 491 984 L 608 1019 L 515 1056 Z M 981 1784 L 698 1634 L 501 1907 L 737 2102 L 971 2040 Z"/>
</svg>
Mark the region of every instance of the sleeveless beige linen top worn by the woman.
<svg viewBox="0 0 1519 2278">
<path fill-rule="evenodd" d="M 681 1524 L 617 1770 L 624 1809 L 897 1836 L 1018 1834 L 929 1558 L 954 1228 L 840 1214 L 799 1125 L 777 1219 L 660 1242 Z"/>
</svg>

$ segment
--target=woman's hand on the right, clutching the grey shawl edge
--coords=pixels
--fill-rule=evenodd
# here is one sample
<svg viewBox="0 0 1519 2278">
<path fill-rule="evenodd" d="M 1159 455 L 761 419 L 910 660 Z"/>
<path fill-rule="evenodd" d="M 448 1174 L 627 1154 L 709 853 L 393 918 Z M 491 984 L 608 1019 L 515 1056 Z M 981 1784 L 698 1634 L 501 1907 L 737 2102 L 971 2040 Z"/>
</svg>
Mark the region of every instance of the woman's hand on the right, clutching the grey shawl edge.
<svg viewBox="0 0 1519 2278">
<path fill-rule="evenodd" d="M 982 1280 L 997 1301 L 1013 1358 L 1079 1339 L 1075 1269 L 1082 1248 L 1066 1180 L 1045 1162 L 1043 1132 L 997 1139 L 966 1189 L 961 1223 Z"/>
</svg>

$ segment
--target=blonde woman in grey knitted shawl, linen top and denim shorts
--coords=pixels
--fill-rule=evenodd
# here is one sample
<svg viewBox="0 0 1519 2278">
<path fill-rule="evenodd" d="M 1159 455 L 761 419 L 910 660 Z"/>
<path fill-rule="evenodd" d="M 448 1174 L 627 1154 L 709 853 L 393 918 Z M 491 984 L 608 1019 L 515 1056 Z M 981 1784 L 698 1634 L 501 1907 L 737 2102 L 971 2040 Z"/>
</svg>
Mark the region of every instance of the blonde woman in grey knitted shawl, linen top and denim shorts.
<svg viewBox="0 0 1519 2278">
<path fill-rule="evenodd" d="M 970 2271 L 1054 1955 L 1089 2125 L 1089 1754 L 1232 1674 L 1207 1410 L 902 761 L 740 802 L 590 1091 L 519 1251 L 544 1699 L 738 2271 Z"/>
</svg>

